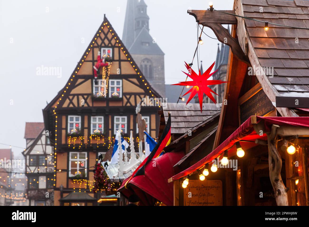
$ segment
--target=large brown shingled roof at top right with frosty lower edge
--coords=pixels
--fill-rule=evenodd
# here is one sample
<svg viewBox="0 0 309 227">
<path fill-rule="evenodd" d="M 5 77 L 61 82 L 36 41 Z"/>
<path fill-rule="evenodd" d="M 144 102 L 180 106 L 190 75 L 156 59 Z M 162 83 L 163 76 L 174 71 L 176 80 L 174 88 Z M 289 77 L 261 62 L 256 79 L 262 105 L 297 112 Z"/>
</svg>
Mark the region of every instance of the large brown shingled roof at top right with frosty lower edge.
<svg viewBox="0 0 309 227">
<path fill-rule="evenodd" d="M 309 28 L 309 1 L 242 0 L 244 16 L 281 25 Z M 263 10 L 261 12 L 261 9 Z M 262 67 L 274 67 L 269 82 L 281 96 L 309 97 L 309 31 L 245 19 Z"/>
</svg>

